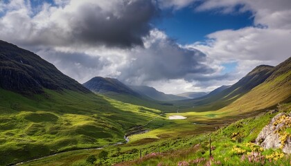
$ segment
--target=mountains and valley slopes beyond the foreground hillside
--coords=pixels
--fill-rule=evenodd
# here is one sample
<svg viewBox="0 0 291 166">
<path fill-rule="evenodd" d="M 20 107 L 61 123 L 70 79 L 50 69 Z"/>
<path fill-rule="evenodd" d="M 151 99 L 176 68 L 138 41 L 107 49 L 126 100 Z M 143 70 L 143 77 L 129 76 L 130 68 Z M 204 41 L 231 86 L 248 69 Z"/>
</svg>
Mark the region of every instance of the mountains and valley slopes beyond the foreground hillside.
<svg viewBox="0 0 291 166">
<path fill-rule="evenodd" d="M 127 145 L 134 149 L 167 138 L 177 142 L 197 134 L 196 129 L 213 131 L 209 117 L 224 116 L 219 122 L 233 122 L 229 117 L 291 102 L 291 57 L 277 66 L 257 66 L 236 84 L 194 98 L 193 93 L 168 95 L 107 77 L 94 77 L 82 85 L 35 53 L 0 41 L 0 78 L 0 165 L 122 144 L 133 129 L 153 131 Z M 168 120 L 178 110 L 193 116 L 186 122 Z M 193 126 L 196 120 L 208 125 Z M 123 148 L 125 156 L 139 151 Z"/>
</svg>

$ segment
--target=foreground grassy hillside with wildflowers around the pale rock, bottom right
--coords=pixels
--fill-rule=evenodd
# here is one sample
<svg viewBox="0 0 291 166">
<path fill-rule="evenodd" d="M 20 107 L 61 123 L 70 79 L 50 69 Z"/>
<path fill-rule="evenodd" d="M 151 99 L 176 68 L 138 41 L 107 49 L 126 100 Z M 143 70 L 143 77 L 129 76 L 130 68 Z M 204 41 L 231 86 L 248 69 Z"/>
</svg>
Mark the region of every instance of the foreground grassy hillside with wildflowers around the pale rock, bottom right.
<svg viewBox="0 0 291 166">
<path fill-rule="evenodd" d="M 175 142 L 175 146 L 182 145 L 181 149 L 163 151 L 161 154 L 152 151 L 152 154 L 145 155 L 143 158 L 117 165 L 207 165 L 207 163 L 212 163 L 211 165 L 238 165 L 238 163 L 240 165 L 290 165 L 290 156 L 283 154 L 281 149 L 264 150 L 252 143 L 261 129 L 274 116 L 276 114 L 261 113 L 254 118 L 238 120 L 207 135 L 180 139 L 179 142 Z M 240 133 L 239 137 L 233 138 L 233 133 Z M 210 137 L 213 158 L 209 157 Z M 261 157 L 256 155 L 261 155 Z M 250 162 L 248 156 L 255 159 Z"/>
</svg>

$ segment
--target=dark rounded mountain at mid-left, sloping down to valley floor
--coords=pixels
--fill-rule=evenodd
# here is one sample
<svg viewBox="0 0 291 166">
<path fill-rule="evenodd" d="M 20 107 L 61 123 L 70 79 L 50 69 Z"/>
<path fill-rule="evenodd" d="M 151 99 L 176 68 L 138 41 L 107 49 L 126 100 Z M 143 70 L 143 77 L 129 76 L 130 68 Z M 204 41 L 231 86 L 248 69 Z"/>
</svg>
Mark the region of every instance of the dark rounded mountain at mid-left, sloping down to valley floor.
<svg viewBox="0 0 291 166">
<path fill-rule="evenodd" d="M 123 84 L 117 79 L 108 77 L 94 77 L 85 82 L 83 85 L 94 93 L 105 95 L 108 98 L 121 102 L 150 107 L 152 109 L 159 109 L 162 111 L 176 110 L 176 108 L 173 107 L 173 104 L 165 101 L 158 101 L 150 98 L 148 95 L 140 93 L 139 91 L 134 91 L 131 87 Z"/>
</svg>

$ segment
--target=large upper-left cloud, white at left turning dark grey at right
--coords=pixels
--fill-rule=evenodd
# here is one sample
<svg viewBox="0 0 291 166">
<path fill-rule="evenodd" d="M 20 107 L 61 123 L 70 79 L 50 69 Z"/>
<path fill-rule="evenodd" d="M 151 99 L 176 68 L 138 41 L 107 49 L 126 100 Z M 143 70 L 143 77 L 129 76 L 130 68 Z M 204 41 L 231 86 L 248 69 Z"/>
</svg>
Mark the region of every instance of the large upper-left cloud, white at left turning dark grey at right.
<svg viewBox="0 0 291 166">
<path fill-rule="evenodd" d="M 29 2 L 29 1 L 28 1 Z M 26 1 L 3 4 L 0 19 L 2 39 L 21 45 L 108 47 L 142 46 L 150 21 L 158 15 L 155 1 L 55 1 L 43 3 L 41 10 Z M 21 28 L 20 28 L 21 27 Z"/>
</svg>

